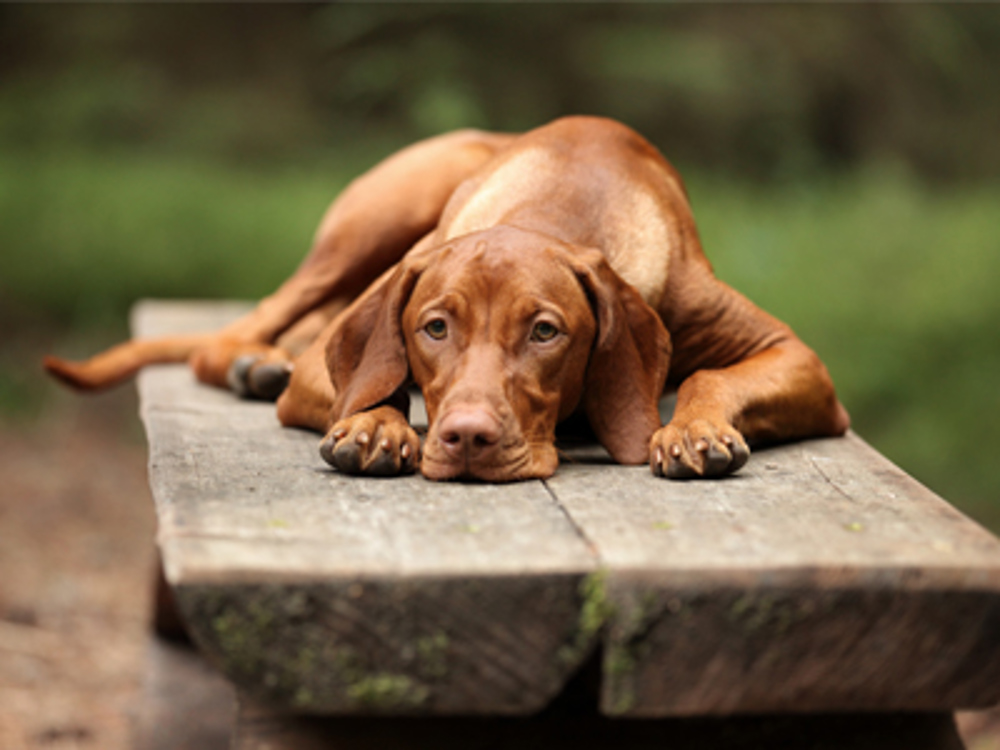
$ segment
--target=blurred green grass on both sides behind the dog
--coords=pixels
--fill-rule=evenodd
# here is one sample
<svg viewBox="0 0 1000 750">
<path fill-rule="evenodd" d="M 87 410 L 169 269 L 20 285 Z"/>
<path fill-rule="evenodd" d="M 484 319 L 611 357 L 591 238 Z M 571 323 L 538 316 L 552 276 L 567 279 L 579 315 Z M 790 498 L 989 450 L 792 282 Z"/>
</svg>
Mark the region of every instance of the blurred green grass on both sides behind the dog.
<svg viewBox="0 0 1000 750">
<path fill-rule="evenodd" d="M 337 162 L 0 151 L 0 310 L 92 339 L 109 325 L 121 335 L 140 297 L 259 297 L 352 176 Z M 857 431 L 1000 530 L 1000 186 L 932 191 L 888 168 L 770 188 L 688 182 L 720 277 L 820 353 Z M 33 368 L 0 352 L 0 416 L 30 401 Z"/>
</svg>

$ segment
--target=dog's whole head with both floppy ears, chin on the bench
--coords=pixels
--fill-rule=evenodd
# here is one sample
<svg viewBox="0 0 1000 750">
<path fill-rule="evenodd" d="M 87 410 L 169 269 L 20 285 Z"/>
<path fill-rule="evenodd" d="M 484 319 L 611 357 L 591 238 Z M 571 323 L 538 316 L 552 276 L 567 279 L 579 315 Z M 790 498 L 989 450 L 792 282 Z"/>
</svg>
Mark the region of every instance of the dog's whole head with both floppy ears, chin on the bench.
<svg viewBox="0 0 1000 750">
<path fill-rule="evenodd" d="M 582 407 L 620 463 L 659 427 L 670 338 L 595 250 L 498 227 L 417 251 L 337 327 L 333 419 L 412 379 L 427 403 L 431 479 L 550 476 L 556 424 Z"/>
</svg>

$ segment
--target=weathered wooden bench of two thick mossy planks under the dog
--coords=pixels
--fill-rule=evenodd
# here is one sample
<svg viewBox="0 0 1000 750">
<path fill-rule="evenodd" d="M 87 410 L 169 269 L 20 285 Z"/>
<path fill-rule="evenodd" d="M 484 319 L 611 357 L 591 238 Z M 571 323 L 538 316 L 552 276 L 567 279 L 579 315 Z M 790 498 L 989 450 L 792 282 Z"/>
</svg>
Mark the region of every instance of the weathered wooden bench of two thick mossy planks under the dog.
<svg viewBox="0 0 1000 750">
<path fill-rule="evenodd" d="M 146 302 L 133 328 L 242 309 Z M 961 747 L 951 712 L 1000 701 L 1000 542 L 854 434 L 721 481 L 594 446 L 544 482 L 362 479 L 184 367 L 139 390 L 235 747 Z"/>
</svg>

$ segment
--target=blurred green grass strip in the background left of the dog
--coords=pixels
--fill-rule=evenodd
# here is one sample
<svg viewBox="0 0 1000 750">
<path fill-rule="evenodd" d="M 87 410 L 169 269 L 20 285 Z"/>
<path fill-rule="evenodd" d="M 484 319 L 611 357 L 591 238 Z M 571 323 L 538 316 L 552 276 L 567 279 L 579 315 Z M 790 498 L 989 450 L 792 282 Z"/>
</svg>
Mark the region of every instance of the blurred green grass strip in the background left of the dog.
<svg viewBox="0 0 1000 750">
<path fill-rule="evenodd" d="M 60 323 L 143 296 L 257 297 L 291 273 L 346 175 L 155 156 L 0 154 L 9 302 Z"/>
</svg>

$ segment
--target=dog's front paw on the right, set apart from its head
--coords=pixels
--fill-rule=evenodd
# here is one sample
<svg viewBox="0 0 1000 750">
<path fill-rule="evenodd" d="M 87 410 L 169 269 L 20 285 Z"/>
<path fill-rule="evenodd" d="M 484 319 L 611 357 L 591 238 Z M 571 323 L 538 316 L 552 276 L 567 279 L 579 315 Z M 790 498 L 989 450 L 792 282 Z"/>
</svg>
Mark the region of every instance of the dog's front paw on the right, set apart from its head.
<svg viewBox="0 0 1000 750">
<path fill-rule="evenodd" d="M 653 473 L 671 479 L 721 477 L 737 471 L 750 458 L 743 436 L 732 425 L 694 419 L 687 424 L 670 422 L 649 444 Z"/>
</svg>

